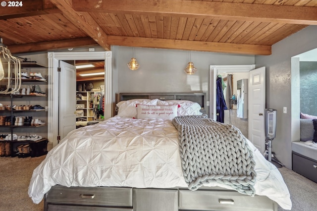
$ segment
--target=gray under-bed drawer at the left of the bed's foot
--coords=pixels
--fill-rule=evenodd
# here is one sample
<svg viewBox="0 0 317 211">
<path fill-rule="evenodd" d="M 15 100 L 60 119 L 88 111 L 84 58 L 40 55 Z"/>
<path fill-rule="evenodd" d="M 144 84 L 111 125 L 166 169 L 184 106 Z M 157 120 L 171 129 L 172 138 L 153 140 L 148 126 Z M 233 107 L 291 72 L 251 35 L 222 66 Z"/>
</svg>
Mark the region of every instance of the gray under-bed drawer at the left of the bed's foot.
<svg viewBox="0 0 317 211">
<path fill-rule="evenodd" d="M 55 185 L 46 194 L 45 204 L 132 208 L 132 188 L 65 187 Z M 48 205 L 49 206 L 49 205 Z"/>
</svg>

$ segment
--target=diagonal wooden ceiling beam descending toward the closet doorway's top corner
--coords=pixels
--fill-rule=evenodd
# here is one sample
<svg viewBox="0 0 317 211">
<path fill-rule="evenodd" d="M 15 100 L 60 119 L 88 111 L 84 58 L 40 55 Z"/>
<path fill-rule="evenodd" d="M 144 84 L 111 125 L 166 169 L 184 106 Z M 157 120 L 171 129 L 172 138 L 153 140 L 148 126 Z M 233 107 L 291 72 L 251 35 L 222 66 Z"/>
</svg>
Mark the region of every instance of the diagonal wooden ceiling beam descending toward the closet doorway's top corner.
<svg viewBox="0 0 317 211">
<path fill-rule="evenodd" d="M 107 44 L 107 34 L 102 30 L 94 18 L 88 12 L 76 12 L 72 8 L 71 0 L 50 0 L 63 15 L 75 26 L 80 28 L 88 36 L 93 38 L 106 51 L 110 51 Z"/>
</svg>

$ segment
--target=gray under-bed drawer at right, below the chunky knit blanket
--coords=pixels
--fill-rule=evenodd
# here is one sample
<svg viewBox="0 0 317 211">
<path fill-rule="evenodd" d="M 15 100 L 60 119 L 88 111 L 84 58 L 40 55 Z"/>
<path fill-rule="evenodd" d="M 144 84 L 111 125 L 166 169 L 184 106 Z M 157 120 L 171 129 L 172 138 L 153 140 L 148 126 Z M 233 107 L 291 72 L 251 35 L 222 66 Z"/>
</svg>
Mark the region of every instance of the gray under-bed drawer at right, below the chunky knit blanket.
<svg viewBox="0 0 317 211">
<path fill-rule="evenodd" d="M 179 191 L 180 211 L 277 211 L 277 204 L 264 196 L 247 196 L 236 191 Z"/>
</svg>

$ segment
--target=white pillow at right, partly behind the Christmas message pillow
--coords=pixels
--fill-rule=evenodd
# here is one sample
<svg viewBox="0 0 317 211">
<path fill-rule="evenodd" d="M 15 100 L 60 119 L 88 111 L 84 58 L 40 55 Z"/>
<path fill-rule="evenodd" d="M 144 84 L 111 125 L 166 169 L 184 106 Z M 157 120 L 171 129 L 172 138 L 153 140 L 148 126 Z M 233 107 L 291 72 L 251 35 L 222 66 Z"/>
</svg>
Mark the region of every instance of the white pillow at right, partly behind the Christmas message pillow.
<svg viewBox="0 0 317 211">
<path fill-rule="evenodd" d="M 202 115 L 200 112 L 202 107 L 195 102 L 186 100 L 168 100 L 168 101 L 158 101 L 158 105 L 179 105 L 177 109 L 178 116 L 186 115 Z"/>
</svg>

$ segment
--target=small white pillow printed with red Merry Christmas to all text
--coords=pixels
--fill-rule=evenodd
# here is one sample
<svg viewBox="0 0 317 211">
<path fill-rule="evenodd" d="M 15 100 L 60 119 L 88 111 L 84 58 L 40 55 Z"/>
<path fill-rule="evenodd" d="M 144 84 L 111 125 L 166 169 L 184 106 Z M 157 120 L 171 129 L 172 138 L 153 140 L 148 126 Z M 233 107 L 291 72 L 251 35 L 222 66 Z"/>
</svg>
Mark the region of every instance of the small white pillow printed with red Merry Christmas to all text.
<svg viewBox="0 0 317 211">
<path fill-rule="evenodd" d="M 144 118 L 161 118 L 161 119 L 173 119 L 177 116 L 178 105 L 171 106 L 147 106 L 138 104 L 138 119 Z"/>
</svg>

